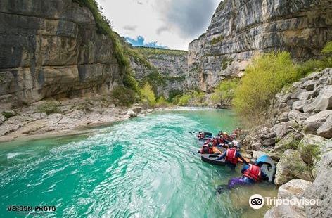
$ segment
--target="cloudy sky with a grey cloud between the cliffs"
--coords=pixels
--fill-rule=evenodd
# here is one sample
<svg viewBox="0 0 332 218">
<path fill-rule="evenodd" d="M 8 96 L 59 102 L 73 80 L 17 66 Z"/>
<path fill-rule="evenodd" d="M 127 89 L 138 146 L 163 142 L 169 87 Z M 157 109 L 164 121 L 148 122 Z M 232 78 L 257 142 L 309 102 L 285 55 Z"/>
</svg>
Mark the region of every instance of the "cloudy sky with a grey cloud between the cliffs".
<svg viewBox="0 0 332 218">
<path fill-rule="evenodd" d="M 134 46 L 188 50 L 220 0 L 96 0 L 115 32 Z"/>
</svg>

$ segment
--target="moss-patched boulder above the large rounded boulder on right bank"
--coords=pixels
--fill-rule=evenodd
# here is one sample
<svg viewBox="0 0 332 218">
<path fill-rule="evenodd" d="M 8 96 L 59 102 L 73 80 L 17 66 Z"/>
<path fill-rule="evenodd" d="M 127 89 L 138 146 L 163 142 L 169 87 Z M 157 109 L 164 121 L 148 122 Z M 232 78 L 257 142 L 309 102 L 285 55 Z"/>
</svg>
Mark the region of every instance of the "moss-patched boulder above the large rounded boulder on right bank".
<svg viewBox="0 0 332 218">
<path fill-rule="evenodd" d="M 298 144 L 298 152 L 304 162 L 314 164 L 315 158 L 323 151 L 326 139 L 321 136 L 308 134 Z"/>
</svg>

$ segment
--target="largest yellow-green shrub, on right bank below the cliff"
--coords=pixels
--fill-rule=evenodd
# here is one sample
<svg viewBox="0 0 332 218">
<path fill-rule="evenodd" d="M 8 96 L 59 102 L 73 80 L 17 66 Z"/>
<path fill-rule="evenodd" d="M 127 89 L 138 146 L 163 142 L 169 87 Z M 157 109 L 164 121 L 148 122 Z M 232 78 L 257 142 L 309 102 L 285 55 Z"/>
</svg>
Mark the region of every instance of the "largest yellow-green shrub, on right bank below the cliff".
<svg viewBox="0 0 332 218">
<path fill-rule="evenodd" d="M 253 58 L 235 91 L 234 107 L 252 124 L 264 122 L 270 100 L 284 85 L 298 79 L 298 72 L 288 52 L 267 53 Z"/>
</svg>

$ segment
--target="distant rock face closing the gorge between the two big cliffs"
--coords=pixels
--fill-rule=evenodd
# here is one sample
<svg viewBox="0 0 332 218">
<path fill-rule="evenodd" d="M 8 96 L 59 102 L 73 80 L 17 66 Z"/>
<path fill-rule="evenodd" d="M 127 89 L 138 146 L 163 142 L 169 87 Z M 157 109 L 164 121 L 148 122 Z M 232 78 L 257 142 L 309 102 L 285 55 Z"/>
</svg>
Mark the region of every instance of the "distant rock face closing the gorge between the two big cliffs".
<svg viewBox="0 0 332 218">
<path fill-rule="evenodd" d="M 138 81 L 150 77 L 157 82 L 155 90 L 158 96 L 166 99 L 182 94 L 186 72 L 188 71 L 188 53 L 186 51 L 140 48 L 149 65 L 132 58 L 131 65 L 134 77 Z M 156 81 L 158 79 L 159 81 Z"/>
</svg>

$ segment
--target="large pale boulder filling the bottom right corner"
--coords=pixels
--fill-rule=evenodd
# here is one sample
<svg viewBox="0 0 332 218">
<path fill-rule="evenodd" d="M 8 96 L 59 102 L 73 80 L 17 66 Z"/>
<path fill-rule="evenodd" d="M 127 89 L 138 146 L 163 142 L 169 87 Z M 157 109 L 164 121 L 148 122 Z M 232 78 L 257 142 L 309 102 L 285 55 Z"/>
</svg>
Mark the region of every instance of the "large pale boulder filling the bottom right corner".
<svg viewBox="0 0 332 218">
<path fill-rule="evenodd" d="M 332 151 L 325 153 L 318 163 L 317 177 L 305 191 L 305 198 L 319 199 L 318 205 L 306 205 L 307 217 L 332 217 Z"/>
</svg>

